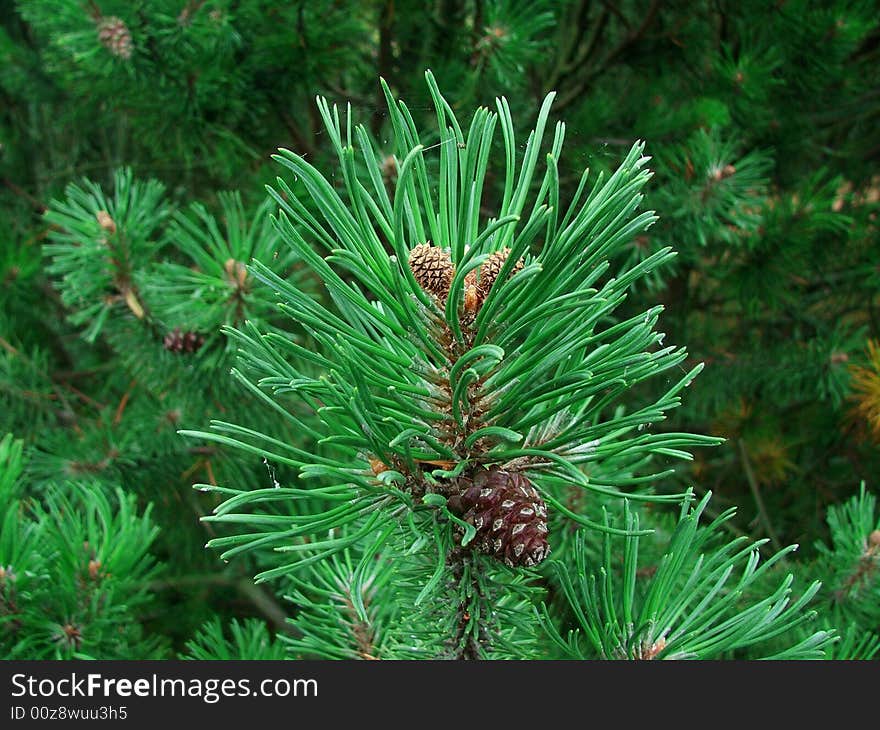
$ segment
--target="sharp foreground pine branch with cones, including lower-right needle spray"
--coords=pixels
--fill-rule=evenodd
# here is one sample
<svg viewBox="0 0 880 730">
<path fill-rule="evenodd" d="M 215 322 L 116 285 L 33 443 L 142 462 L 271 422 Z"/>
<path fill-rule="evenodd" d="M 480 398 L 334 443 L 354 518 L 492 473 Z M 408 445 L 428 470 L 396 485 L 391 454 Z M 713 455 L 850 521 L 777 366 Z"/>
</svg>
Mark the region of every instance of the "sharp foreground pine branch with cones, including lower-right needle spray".
<svg viewBox="0 0 880 730">
<path fill-rule="evenodd" d="M 400 160 L 393 196 L 375 173 L 381 160 L 367 130 L 350 117 L 343 121 L 324 100 L 319 106 L 345 197 L 301 156 L 286 150 L 277 156 L 306 189 L 297 196 L 279 178 L 272 190 L 281 209 L 278 229 L 324 282 L 333 306 L 318 306 L 257 265 L 257 276 L 321 351 L 255 326 L 230 330 L 245 366 L 234 373 L 263 393 L 267 406 L 281 410 L 288 394 L 297 396 L 317 419 L 317 443 L 325 448 L 309 452 L 227 421 L 214 423 L 216 433 L 185 431 L 299 471 L 296 487 L 202 485 L 225 497 L 207 520 L 248 528 L 209 545 L 229 559 L 257 553 L 267 565 L 258 581 L 286 578 L 298 586 L 296 602 L 311 610 L 296 622 L 307 638 L 293 646 L 306 656 L 541 656 L 548 651 L 542 625 L 556 645 L 580 657 L 700 658 L 751 648 L 799 627 L 812 615 L 804 607 L 818 582 L 791 605 L 790 574 L 753 604 L 740 600 L 752 583 L 766 590 L 762 578 L 788 550 L 756 570 L 758 546 L 739 538 L 716 543 L 717 552 L 704 560 L 721 521 L 696 529 L 708 498 L 691 510 L 690 492 L 660 495 L 644 487 L 665 476 L 652 466 L 654 458 L 687 458 L 684 448 L 717 441 L 660 428 L 699 366 L 656 402 L 629 411 L 619 405 L 639 383 L 686 357 L 681 348 L 660 345 L 663 335 L 654 331 L 659 308 L 627 318 L 614 314 L 631 283 L 670 256 L 661 249 L 609 274 L 609 254 L 655 220 L 649 211 L 638 212 L 649 178 L 642 145 L 607 179 L 590 185 L 585 172 L 580 195 L 565 205 L 556 184 L 565 135 L 558 123 L 531 198 L 552 95 L 517 167 L 504 99 L 497 114 L 478 110 L 465 132 L 433 76 L 427 78 L 439 159 L 426 154 L 408 108 L 385 87 Z M 475 198 L 496 125 L 504 138 L 504 197 L 497 217 L 485 220 Z M 366 167 L 360 176 L 358 156 Z M 429 164 L 439 164 L 436 194 Z M 321 248 L 324 257 L 315 251 Z M 483 285 L 485 298 L 469 298 L 473 271 L 491 280 Z M 306 426 L 293 413 L 289 418 Z M 652 427 L 653 433 L 644 432 Z M 642 588 L 638 616 L 636 555 L 643 533 L 628 508 L 614 524 L 606 507 L 620 499 L 627 505 L 627 497 L 683 504 L 666 557 Z M 325 506 L 315 509 L 321 498 Z M 586 509 L 575 511 L 571 502 Z M 590 519 L 600 506 L 603 521 Z M 567 540 L 554 540 L 566 532 Z M 603 599 L 587 579 L 585 532 L 608 535 Z M 617 576 L 623 583 L 619 619 L 598 613 L 616 603 L 612 534 L 627 541 Z M 551 563 L 554 582 L 568 610 L 581 618 L 591 651 L 562 638 L 557 623 L 567 620 L 558 605 L 535 611 L 553 578 L 541 581 L 529 568 L 541 567 L 554 542 L 560 553 Z M 738 562 L 742 577 L 727 592 Z M 408 565 L 407 577 L 393 580 L 383 565 L 395 572 Z M 584 582 L 578 586 L 572 575 Z M 335 610 L 323 605 L 327 597 Z M 398 607 L 393 618 L 383 615 L 389 604 Z M 404 619 L 404 606 L 418 614 Z M 809 634 L 770 656 L 821 655 L 831 636 Z"/>
</svg>

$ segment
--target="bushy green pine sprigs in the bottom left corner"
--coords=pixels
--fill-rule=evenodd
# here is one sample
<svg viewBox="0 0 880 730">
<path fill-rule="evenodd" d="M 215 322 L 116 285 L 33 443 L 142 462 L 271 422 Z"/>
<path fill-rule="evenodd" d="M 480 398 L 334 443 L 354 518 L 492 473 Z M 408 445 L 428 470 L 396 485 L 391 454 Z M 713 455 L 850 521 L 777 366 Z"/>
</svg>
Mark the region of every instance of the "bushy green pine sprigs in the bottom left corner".
<svg viewBox="0 0 880 730">
<path fill-rule="evenodd" d="M 159 532 L 134 495 L 67 480 L 24 494 L 22 442 L 0 440 L 0 647 L 7 659 L 159 658 L 145 626 Z"/>
</svg>

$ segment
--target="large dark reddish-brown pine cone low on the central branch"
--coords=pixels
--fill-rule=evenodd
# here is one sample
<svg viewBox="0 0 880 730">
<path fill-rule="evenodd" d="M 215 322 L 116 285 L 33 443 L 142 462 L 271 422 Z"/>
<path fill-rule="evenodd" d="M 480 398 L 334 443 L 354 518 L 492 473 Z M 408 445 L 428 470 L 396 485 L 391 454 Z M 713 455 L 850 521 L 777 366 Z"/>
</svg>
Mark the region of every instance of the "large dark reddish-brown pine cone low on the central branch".
<svg viewBox="0 0 880 730">
<path fill-rule="evenodd" d="M 522 474 L 493 467 L 459 480 L 449 509 L 477 529 L 471 543 L 510 567 L 537 565 L 550 554 L 547 506 Z"/>
</svg>

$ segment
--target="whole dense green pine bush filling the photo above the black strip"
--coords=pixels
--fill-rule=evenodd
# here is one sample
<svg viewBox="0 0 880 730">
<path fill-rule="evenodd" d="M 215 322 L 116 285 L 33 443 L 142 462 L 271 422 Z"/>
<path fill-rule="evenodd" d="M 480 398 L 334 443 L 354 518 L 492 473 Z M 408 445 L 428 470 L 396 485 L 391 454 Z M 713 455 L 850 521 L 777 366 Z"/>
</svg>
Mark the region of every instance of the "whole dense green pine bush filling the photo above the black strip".
<svg viewBox="0 0 880 730">
<path fill-rule="evenodd" d="M 876 655 L 870 4 L 4 7 L 10 656 Z"/>
</svg>

